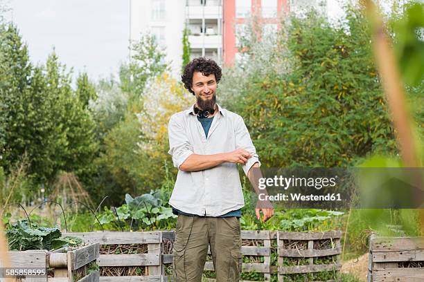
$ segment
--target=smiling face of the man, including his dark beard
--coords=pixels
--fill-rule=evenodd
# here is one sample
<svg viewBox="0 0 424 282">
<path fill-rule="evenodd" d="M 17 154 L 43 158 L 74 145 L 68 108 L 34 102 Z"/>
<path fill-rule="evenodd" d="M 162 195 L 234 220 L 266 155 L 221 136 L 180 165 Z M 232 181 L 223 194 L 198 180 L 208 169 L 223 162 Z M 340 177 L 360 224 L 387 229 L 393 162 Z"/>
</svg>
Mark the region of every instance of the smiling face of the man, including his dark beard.
<svg viewBox="0 0 424 282">
<path fill-rule="evenodd" d="M 213 73 L 208 76 L 198 71 L 193 73 L 193 86 L 191 90 L 195 93 L 197 106 L 200 106 L 202 109 L 202 105 L 213 106 L 212 109 L 214 109 L 216 86 L 217 83 Z"/>
</svg>

